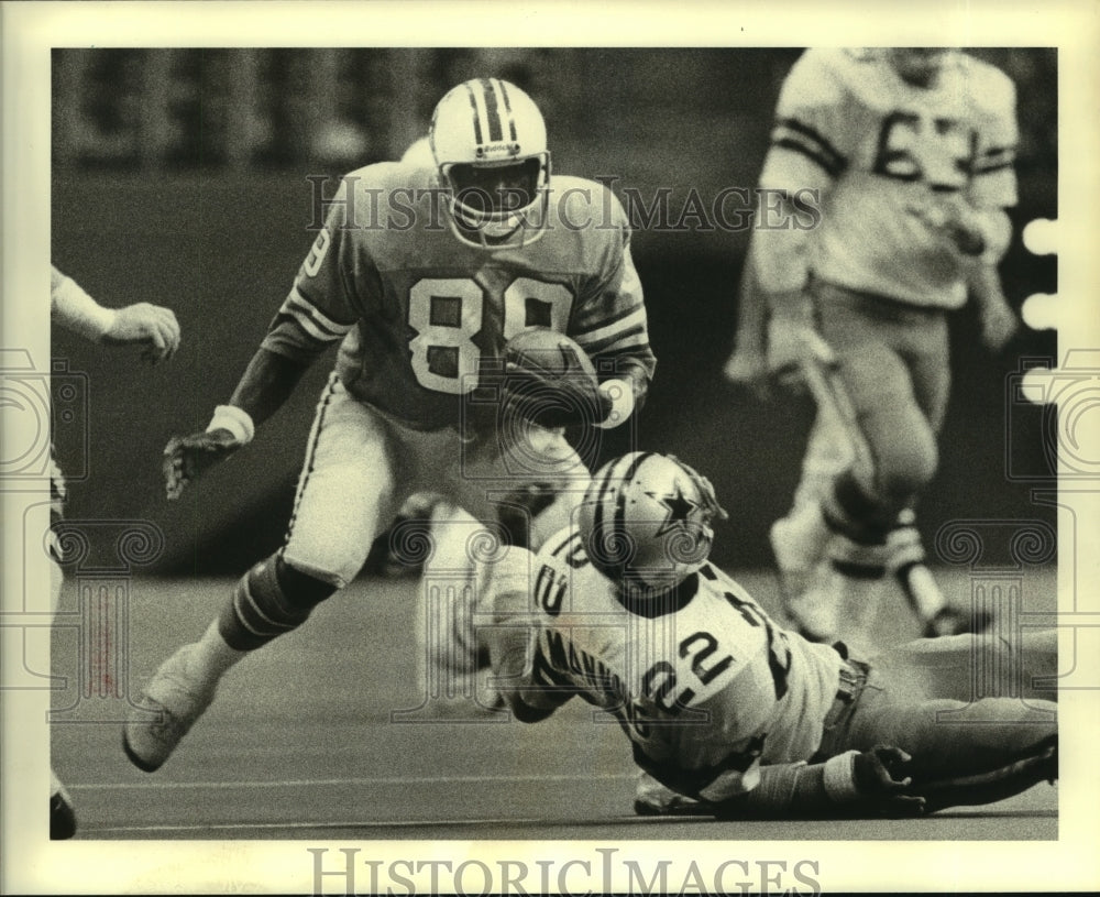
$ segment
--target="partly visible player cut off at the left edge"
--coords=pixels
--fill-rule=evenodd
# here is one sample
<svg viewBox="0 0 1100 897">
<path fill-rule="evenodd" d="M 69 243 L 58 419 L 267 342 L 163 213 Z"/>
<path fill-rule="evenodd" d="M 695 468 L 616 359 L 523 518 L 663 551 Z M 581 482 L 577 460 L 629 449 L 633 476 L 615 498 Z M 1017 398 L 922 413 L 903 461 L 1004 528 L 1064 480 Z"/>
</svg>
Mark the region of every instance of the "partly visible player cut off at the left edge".
<svg viewBox="0 0 1100 897">
<path fill-rule="evenodd" d="M 50 269 L 50 320 L 65 330 L 105 346 L 142 346 L 142 358 L 156 364 L 172 358 L 179 348 L 179 322 L 170 308 L 151 303 L 134 303 L 123 308 L 105 308 L 72 277 Z M 50 459 L 50 522 L 55 524 L 65 512 L 65 478 L 53 457 Z M 50 537 L 50 589 L 54 611 L 61 601 L 64 575 L 59 562 L 61 546 L 56 534 Z M 50 836 L 72 838 L 76 833 L 76 813 L 68 792 L 50 770 Z"/>
</svg>

